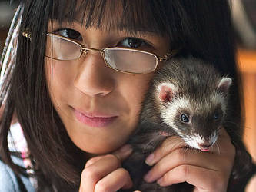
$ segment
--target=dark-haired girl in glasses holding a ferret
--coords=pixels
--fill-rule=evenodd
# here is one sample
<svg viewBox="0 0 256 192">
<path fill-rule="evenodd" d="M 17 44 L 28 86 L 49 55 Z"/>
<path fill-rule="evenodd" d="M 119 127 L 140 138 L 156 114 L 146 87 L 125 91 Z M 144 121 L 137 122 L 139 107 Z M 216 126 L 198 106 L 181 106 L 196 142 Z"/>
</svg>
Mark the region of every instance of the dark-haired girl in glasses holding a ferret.
<svg viewBox="0 0 256 192">
<path fill-rule="evenodd" d="M 2 66 L 3 184 L 14 176 L 12 182 L 27 191 L 130 188 L 121 167 L 132 152 L 125 142 L 154 71 L 173 56 L 204 59 L 234 78 L 232 123 L 241 125 L 228 1 L 27 0 L 16 16 L 12 59 L 6 49 L 8 65 Z M 28 146 L 23 164 L 18 144 L 15 152 L 8 145 L 19 125 Z M 145 180 L 226 191 L 235 154 L 227 132 L 219 151 L 185 153 L 184 147 L 180 138 L 164 141 L 146 159 L 155 166 Z"/>
</svg>

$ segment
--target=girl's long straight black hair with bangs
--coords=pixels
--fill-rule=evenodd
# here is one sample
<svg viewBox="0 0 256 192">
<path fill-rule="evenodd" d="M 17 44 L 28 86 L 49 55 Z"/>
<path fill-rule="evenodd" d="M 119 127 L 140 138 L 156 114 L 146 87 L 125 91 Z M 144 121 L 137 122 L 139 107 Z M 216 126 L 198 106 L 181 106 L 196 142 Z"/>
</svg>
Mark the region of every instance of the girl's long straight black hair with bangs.
<svg viewBox="0 0 256 192">
<path fill-rule="evenodd" d="M 15 68 L 5 79 L 2 98 L 0 156 L 13 170 L 7 135 L 15 115 L 25 134 L 35 164 L 38 188 L 55 186 L 60 191 L 78 190 L 84 153 L 68 137 L 53 108 L 45 78 L 45 35 L 49 20 L 72 22 L 80 12 L 85 28 L 118 28 L 168 35 L 170 47 L 180 48 L 177 57 L 193 56 L 208 61 L 221 74 L 233 78 L 231 119 L 241 135 L 241 91 L 235 63 L 230 5 L 225 0 L 26 0 L 19 32 Z M 78 8 L 77 8 L 78 7 Z M 22 36 L 29 30 L 31 38 Z M 235 120 L 235 122 L 234 122 Z"/>
</svg>

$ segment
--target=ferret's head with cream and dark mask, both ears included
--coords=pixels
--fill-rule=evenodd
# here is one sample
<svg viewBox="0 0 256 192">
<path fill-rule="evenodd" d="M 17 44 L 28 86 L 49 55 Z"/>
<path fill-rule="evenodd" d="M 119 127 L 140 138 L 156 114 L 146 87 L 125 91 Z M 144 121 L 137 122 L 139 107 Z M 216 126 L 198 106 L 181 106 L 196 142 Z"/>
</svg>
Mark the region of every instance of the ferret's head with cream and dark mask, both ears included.
<svg viewBox="0 0 256 192">
<path fill-rule="evenodd" d="M 161 118 L 191 147 L 209 151 L 227 111 L 231 78 L 221 78 L 212 88 L 194 86 L 181 91 L 171 82 L 158 85 Z M 184 89 L 183 89 L 184 90 Z"/>
</svg>

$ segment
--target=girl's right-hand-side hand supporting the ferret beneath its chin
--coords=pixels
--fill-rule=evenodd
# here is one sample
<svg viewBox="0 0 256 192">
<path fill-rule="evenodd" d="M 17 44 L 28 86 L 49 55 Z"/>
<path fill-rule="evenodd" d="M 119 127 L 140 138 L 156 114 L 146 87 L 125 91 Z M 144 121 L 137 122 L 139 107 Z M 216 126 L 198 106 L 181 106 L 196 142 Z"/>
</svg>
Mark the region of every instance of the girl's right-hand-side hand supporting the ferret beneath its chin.
<svg viewBox="0 0 256 192">
<path fill-rule="evenodd" d="M 234 146 L 224 128 L 217 144 L 208 152 L 185 148 L 181 138 L 169 137 L 146 159 L 147 164 L 155 166 L 145 175 L 145 180 L 156 180 L 161 186 L 186 181 L 194 185 L 194 192 L 224 192 L 234 156 Z"/>
</svg>

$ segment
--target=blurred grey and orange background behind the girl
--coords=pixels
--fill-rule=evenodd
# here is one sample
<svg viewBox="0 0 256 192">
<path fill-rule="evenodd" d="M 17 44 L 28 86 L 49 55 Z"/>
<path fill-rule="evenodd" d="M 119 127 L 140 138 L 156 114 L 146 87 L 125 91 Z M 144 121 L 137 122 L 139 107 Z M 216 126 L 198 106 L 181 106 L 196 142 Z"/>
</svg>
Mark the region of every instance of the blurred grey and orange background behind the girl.
<svg viewBox="0 0 256 192">
<path fill-rule="evenodd" d="M 11 2 L 11 5 L 10 5 Z M 244 88 L 244 142 L 256 162 L 256 0 L 231 0 L 238 42 L 238 68 Z M 0 55 L 18 1 L 0 0 Z M 247 192 L 256 191 L 256 178 Z"/>
</svg>

